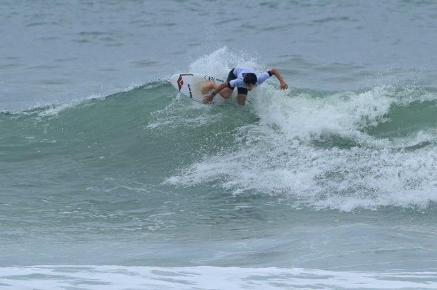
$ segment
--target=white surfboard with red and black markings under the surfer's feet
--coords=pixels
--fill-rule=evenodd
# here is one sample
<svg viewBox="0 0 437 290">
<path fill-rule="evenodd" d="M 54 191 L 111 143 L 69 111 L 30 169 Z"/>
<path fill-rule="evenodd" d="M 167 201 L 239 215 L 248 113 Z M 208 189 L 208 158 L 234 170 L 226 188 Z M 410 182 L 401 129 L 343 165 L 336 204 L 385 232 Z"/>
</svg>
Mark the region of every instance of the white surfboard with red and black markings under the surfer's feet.
<svg viewBox="0 0 437 290">
<path fill-rule="evenodd" d="M 202 104 L 204 96 L 209 95 L 212 92 L 212 90 L 210 90 L 206 94 L 202 94 L 202 88 L 206 81 L 214 81 L 217 85 L 224 82 L 223 79 L 190 72 L 178 73 L 170 77 L 170 83 L 179 91 L 179 93 Z M 226 99 L 217 94 L 211 104 L 221 106 L 224 104 L 224 101 L 226 101 Z"/>
</svg>

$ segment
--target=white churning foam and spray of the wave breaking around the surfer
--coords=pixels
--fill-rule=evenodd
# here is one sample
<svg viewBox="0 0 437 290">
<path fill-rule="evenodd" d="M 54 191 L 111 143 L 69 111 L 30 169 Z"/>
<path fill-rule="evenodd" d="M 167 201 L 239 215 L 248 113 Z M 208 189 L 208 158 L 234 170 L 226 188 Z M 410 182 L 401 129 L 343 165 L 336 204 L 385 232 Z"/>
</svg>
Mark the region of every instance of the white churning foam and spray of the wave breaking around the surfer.
<svg viewBox="0 0 437 290">
<path fill-rule="evenodd" d="M 218 58 L 227 70 L 224 59 L 234 56 L 226 53 L 225 48 L 217 50 L 192 66 L 207 68 Z M 242 62 L 260 68 L 253 59 Z M 393 86 L 359 92 L 281 91 L 271 78 L 251 94 L 248 109 L 258 122 L 233 132 L 233 148 L 205 155 L 168 183 L 212 182 L 233 194 L 278 195 L 296 207 L 341 211 L 423 209 L 437 202 L 437 128 L 402 136 L 370 133 L 391 122 L 396 108 L 429 101 L 432 93 L 418 90 L 412 97 L 411 90 Z"/>
</svg>

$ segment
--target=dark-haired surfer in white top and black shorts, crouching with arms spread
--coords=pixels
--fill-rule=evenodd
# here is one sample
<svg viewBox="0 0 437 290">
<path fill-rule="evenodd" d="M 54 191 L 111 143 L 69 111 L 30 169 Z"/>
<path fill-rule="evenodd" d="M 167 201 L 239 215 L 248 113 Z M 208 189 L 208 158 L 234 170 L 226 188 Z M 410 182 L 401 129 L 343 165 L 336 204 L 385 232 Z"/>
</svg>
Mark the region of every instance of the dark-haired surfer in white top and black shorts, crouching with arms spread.
<svg viewBox="0 0 437 290">
<path fill-rule="evenodd" d="M 214 81 L 208 81 L 202 88 L 202 94 L 206 94 L 208 90 L 214 89 L 213 93 L 204 97 L 204 104 L 211 103 L 215 95 L 220 94 L 225 99 L 229 99 L 232 95 L 233 89 L 237 87 L 237 101 L 238 104 L 244 106 L 246 103 L 247 92 L 253 90 L 256 86 L 262 84 L 266 79 L 272 75 L 279 80 L 280 88 L 287 90 L 288 85 L 284 78 L 280 75 L 279 70 L 272 68 L 267 72 L 256 74 L 251 68 L 233 68 L 228 75 L 228 78 L 223 84 L 218 86 Z"/>
</svg>

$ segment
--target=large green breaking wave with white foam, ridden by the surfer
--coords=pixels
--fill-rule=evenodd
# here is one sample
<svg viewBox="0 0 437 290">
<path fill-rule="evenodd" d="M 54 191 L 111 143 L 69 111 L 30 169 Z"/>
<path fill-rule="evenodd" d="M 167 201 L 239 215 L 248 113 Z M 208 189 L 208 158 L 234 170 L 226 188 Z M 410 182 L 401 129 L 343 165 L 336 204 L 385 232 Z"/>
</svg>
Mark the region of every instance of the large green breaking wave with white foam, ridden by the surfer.
<svg viewBox="0 0 437 290">
<path fill-rule="evenodd" d="M 310 209 L 426 207 L 434 202 L 435 96 L 432 88 L 390 86 L 284 93 L 269 83 L 247 106 L 218 108 L 157 81 L 2 113 L 1 171 L 7 191 L 21 195 L 41 187 L 73 199 L 123 186 L 193 195 L 207 188 Z"/>
</svg>

